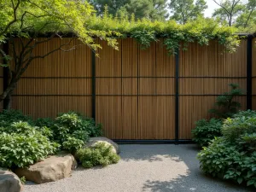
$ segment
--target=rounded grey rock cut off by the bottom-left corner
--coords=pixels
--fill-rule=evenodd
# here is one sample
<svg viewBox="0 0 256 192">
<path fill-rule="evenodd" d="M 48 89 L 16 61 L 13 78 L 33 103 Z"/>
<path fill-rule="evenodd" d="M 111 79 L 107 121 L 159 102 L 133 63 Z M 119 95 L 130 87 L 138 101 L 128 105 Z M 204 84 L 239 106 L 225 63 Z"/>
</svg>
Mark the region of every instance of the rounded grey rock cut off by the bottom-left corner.
<svg viewBox="0 0 256 192">
<path fill-rule="evenodd" d="M 20 178 L 14 172 L 0 168 L 0 191 L 1 192 L 20 192 L 23 186 Z"/>
</svg>

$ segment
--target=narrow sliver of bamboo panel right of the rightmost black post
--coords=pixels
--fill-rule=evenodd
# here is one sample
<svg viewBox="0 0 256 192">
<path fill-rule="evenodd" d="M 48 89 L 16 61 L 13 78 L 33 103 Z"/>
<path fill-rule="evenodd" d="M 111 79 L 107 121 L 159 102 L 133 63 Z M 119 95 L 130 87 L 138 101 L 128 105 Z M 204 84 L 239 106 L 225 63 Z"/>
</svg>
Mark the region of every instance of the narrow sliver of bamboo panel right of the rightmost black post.
<svg viewBox="0 0 256 192">
<path fill-rule="evenodd" d="M 253 110 L 256 110 L 256 38 L 253 38 L 253 44 L 252 44 L 252 56 L 253 56 L 253 63 L 252 63 L 252 105 L 253 105 Z"/>
</svg>

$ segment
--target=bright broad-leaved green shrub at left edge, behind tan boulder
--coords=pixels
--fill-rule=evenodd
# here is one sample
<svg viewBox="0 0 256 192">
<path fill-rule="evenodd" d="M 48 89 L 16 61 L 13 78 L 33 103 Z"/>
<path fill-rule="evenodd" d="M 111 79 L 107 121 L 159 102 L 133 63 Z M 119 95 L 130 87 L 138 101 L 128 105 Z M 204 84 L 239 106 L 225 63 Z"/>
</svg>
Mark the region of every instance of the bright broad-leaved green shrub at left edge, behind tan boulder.
<svg viewBox="0 0 256 192">
<path fill-rule="evenodd" d="M 26 122 L 13 123 L 9 128 L 13 132 L 0 133 L 0 166 L 29 166 L 54 154 L 58 148 L 58 144 L 51 143 L 48 137 Z"/>
</svg>

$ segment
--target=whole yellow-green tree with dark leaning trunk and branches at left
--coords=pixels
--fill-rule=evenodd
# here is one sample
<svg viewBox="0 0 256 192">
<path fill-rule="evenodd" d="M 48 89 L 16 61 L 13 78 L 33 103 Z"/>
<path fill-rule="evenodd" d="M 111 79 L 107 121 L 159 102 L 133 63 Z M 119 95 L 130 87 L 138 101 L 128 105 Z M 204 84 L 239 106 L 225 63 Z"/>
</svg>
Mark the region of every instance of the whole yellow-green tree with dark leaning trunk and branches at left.
<svg viewBox="0 0 256 192">
<path fill-rule="evenodd" d="M 10 108 L 11 94 L 32 61 L 44 59 L 55 51 L 77 49 L 80 44 L 73 44 L 73 38 L 79 38 L 81 44 L 96 50 L 100 45 L 95 43 L 93 37 L 101 37 L 116 48 L 116 41 L 108 38 L 113 32 L 91 30 L 84 26 L 94 14 L 89 3 L 79 0 L 2 0 L 0 8 L 0 45 L 9 41 L 10 51 L 8 55 L 0 46 L 0 61 L 3 61 L 3 67 L 9 69 L 9 82 L 0 96 L 0 102 L 7 99 L 6 108 Z M 41 55 L 35 53 L 39 45 L 61 38 L 67 32 L 74 34 L 69 42 L 63 40 L 62 44 L 56 44 L 48 52 Z M 42 34 L 46 38 L 39 38 Z"/>
</svg>

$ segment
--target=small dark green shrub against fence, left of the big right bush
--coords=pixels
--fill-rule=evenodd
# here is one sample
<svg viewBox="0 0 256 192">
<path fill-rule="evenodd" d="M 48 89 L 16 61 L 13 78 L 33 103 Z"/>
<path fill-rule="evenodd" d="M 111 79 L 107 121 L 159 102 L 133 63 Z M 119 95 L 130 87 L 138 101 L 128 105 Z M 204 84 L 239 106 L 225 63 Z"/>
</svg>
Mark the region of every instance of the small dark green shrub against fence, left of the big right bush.
<svg viewBox="0 0 256 192">
<path fill-rule="evenodd" d="M 193 141 L 201 147 L 207 146 L 214 137 L 220 137 L 223 125 L 220 119 L 201 119 L 195 122 L 195 129 L 192 130 Z"/>
</svg>

